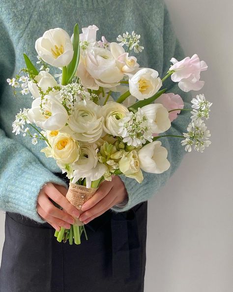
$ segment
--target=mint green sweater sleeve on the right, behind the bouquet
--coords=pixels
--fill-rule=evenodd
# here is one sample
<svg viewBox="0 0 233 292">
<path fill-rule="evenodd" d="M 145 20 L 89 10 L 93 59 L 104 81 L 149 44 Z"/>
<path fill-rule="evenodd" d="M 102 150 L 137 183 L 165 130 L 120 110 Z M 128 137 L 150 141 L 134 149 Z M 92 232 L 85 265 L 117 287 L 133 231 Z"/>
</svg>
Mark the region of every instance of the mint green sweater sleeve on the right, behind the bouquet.
<svg viewBox="0 0 233 292">
<path fill-rule="evenodd" d="M 178 39 L 175 37 L 175 33 L 172 28 L 172 24 L 168 15 L 168 11 L 165 8 L 164 14 L 164 27 L 163 27 L 163 65 L 162 76 L 164 77 L 169 70 L 172 57 L 177 60 L 182 60 L 184 52 L 180 46 Z M 156 68 L 153 68 L 156 70 Z M 168 78 L 164 82 L 164 88 L 167 88 L 167 92 L 173 92 L 179 94 L 184 101 L 184 108 L 191 108 L 191 95 L 181 91 L 177 83 L 172 82 L 171 78 Z M 189 111 L 181 111 L 177 119 L 172 122 L 172 127 L 162 135 L 182 135 L 185 132 L 190 119 Z M 133 206 L 144 202 L 155 195 L 159 189 L 169 180 L 174 174 L 175 170 L 180 165 L 180 162 L 186 153 L 184 147 L 181 146 L 181 139 L 174 137 L 164 137 L 159 139 L 162 146 L 168 150 L 168 160 L 171 163 L 171 167 L 162 174 L 151 174 L 143 171 L 144 180 L 142 183 L 137 183 L 134 179 L 120 175 L 121 180 L 125 184 L 128 192 L 128 203 L 122 208 L 113 206 L 111 209 L 115 212 L 127 211 Z"/>
</svg>

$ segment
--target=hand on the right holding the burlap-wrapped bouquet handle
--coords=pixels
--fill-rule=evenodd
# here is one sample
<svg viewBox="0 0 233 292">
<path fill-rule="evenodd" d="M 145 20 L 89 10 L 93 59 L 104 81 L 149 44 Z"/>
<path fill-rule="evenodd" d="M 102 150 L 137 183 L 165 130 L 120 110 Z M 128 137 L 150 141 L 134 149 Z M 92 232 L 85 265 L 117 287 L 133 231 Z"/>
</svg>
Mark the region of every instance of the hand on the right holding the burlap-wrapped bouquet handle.
<svg viewBox="0 0 233 292">
<path fill-rule="evenodd" d="M 112 182 L 103 181 L 92 198 L 83 204 L 79 219 L 87 224 L 92 219 L 102 215 L 104 212 L 124 201 L 127 191 L 124 183 L 118 176 L 112 176 Z"/>
</svg>

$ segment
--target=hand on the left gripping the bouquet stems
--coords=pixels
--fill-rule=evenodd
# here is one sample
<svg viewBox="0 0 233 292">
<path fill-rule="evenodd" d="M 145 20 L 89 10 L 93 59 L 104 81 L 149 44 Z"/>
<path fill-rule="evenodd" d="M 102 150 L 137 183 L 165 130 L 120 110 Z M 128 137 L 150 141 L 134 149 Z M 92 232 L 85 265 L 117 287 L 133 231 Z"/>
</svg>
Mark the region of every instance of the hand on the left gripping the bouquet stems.
<svg viewBox="0 0 233 292">
<path fill-rule="evenodd" d="M 60 230 L 60 226 L 69 229 L 70 224 L 74 223 L 73 217 L 79 217 L 80 215 L 78 209 L 66 199 L 66 193 L 67 189 L 64 186 L 47 183 L 38 195 L 37 213 L 56 230 Z M 50 199 L 61 206 L 63 210 L 54 206 Z"/>
</svg>

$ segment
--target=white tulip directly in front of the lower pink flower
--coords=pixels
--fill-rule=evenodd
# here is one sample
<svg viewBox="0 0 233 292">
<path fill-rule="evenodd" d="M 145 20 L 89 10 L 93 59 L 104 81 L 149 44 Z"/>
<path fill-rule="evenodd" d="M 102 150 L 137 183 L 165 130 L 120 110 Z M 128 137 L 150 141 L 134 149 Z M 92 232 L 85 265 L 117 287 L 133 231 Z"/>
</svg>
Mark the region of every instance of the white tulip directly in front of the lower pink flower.
<svg viewBox="0 0 233 292">
<path fill-rule="evenodd" d="M 163 133 L 171 127 L 169 112 L 162 104 L 150 104 L 139 110 L 150 122 L 152 133 Z"/>
</svg>

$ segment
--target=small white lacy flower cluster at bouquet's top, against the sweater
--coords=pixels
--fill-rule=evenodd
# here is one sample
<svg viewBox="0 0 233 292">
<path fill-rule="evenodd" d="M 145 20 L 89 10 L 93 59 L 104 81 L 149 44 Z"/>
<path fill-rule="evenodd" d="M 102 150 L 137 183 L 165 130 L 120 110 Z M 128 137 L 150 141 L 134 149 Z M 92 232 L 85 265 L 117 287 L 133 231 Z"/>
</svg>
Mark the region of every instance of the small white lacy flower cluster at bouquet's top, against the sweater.
<svg viewBox="0 0 233 292">
<path fill-rule="evenodd" d="M 134 49 L 135 53 L 142 52 L 144 46 L 141 46 L 140 43 L 140 35 L 137 35 L 134 31 L 130 35 L 128 32 L 124 33 L 123 36 L 119 35 L 117 37 L 117 41 L 120 42 L 120 45 L 126 45 L 129 51 Z"/>
</svg>

